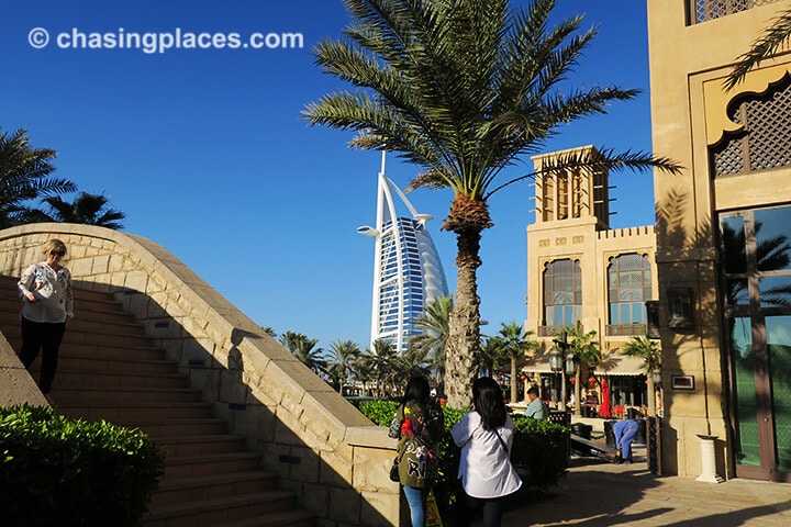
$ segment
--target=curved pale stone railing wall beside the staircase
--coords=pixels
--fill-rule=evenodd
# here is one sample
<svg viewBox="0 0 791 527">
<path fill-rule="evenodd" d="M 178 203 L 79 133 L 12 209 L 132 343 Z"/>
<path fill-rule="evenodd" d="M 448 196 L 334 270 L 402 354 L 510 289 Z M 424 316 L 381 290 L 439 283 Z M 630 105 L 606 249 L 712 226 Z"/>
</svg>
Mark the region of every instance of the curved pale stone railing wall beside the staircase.
<svg viewBox="0 0 791 527">
<path fill-rule="evenodd" d="M 68 247 L 64 264 L 75 285 L 114 293 L 230 430 L 280 475 L 281 487 L 297 492 L 301 508 L 319 516 L 319 525 L 399 525 L 399 487 L 388 478 L 394 445 L 387 430 L 174 255 L 118 231 L 33 224 L 0 231 L 0 273 L 19 276 L 42 260 L 49 238 Z M 0 377 L 0 393 L 9 382 Z"/>
</svg>

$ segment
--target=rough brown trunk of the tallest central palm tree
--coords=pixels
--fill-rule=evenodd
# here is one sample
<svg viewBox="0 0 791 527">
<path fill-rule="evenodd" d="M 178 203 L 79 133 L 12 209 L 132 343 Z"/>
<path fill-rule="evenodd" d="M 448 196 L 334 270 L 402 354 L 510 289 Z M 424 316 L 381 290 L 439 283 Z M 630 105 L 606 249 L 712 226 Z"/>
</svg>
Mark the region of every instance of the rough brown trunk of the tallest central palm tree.
<svg viewBox="0 0 791 527">
<path fill-rule="evenodd" d="M 476 378 L 475 357 L 480 348 L 480 298 L 477 270 L 481 265 L 480 231 L 456 233 L 456 298 L 448 321 L 445 363 L 445 392 L 448 404 L 456 408 L 472 406 L 472 381 Z"/>
</svg>

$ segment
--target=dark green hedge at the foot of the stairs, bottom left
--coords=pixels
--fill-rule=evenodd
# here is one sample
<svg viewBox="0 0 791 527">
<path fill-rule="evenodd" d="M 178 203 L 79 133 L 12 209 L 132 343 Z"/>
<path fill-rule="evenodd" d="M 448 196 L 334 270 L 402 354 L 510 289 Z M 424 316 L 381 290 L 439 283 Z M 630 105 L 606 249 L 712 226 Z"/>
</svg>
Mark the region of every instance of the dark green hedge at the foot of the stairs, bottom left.
<svg viewBox="0 0 791 527">
<path fill-rule="evenodd" d="M 142 525 L 165 455 L 138 430 L 47 407 L 0 408 L 0 523 Z"/>
</svg>

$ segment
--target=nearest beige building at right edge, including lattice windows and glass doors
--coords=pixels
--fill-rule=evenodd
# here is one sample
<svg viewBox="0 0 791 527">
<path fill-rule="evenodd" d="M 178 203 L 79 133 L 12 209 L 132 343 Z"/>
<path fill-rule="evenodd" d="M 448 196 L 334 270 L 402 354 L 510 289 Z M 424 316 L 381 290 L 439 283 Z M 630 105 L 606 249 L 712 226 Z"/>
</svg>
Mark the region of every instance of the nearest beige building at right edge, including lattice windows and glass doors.
<svg viewBox="0 0 791 527">
<path fill-rule="evenodd" d="M 791 1 L 647 4 L 654 152 L 684 167 L 654 178 L 662 471 L 788 482 L 791 51 L 723 81 Z"/>
</svg>

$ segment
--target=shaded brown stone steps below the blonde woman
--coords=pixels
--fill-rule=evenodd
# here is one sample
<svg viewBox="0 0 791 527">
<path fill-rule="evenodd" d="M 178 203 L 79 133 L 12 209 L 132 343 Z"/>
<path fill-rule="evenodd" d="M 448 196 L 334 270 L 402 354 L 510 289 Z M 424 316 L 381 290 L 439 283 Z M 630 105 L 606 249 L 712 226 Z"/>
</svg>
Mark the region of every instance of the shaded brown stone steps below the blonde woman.
<svg viewBox="0 0 791 527">
<path fill-rule="evenodd" d="M 0 277 L 0 330 L 21 346 L 15 279 Z M 313 514 L 296 508 L 277 474 L 230 435 L 212 405 L 189 388 L 177 365 L 155 348 L 111 294 L 75 289 L 49 393 L 54 408 L 86 421 L 140 428 L 167 452 L 165 475 L 146 527 L 312 527 Z M 38 378 L 38 360 L 31 374 Z"/>
</svg>

